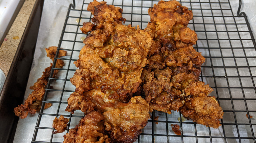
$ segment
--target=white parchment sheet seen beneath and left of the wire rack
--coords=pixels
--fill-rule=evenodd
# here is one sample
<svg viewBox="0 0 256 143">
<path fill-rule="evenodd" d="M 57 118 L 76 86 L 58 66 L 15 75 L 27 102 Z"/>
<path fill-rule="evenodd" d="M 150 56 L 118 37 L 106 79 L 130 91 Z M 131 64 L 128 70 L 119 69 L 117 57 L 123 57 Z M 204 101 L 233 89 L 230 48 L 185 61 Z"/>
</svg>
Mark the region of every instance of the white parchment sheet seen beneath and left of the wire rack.
<svg viewBox="0 0 256 143">
<path fill-rule="evenodd" d="M 117 2 L 116 5 L 120 5 L 122 4 L 122 1 L 115 1 Z M 130 5 L 131 1 L 124 1 L 124 5 Z M 134 5 L 138 5 L 141 6 L 141 1 L 133 1 Z M 40 24 L 40 29 L 39 29 L 39 35 L 38 35 L 38 40 L 37 40 L 37 45 L 36 45 L 36 50 L 35 50 L 35 55 L 34 55 L 34 60 L 33 60 L 33 65 L 32 65 L 32 69 L 31 69 L 31 73 L 30 73 L 30 77 L 29 77 L 29 81 L 28 81 L 28 87 L 26 90 L 26 94 L 25 94 L 25 99 L 28 97 L 28 95 L 31 93 L 31 90 L 29 89 L 30 86 L 33 85 L 33 83 L 37 80 L 37 78 L 39 78 L 42 75 L 42 71 L 44 71 L 44 69 L 46 67 L 50 66 L 50 62 L 52 62 L 52 60 L 49 57 L 46 57 L 46 52 L 44 50 L 44 48 L 47 48 L 49 46 L 57 46 L 59 43 L 59 38 L 61 35 L 61 31 L 63 28 L 63 24 L 66 18 L 66 14 L 67 14 L 67 10 L 69 7 L 69 4 L 72 3 L 71 0 L 63 0 L 63 1 L 59 1 L 59 0 L 45 0 L 45 4 L 44 4 L 44 9 L 43 9 L 43 14 L 42 14 L 42 19 L 41 19 L 41 24 Z M 112 2 L 111 2 L 112 3 Z M 108 3 L 108 4 L 111 4 Z M 157 3 L 157 2 L 154 2 Z M 183 5 L 183 4 L 182 4 Z M 145 3 L 145 5 L 143 6 L 147 6 L 147 3 Z M 151 2 L 148 3 L 148 6 L 151 7 Z M 190 5 L 183 5 L 183 6 L 187 6 L 187 7 L 191 7 Z M 236 4 L 232 4 L 232 6 L 236 7 Z M 82 7 L 82 1 L 81 0 L 76 0 L 76 8 L 75 9 L 81 9 Z M 193 7 L 193 5 L 192 5 Z M 86 9 L 83 8 L 83 9 Z M 129 13 L 131 11 L 129 11 L 130 9 L 124 7 L 124 13 Z M 141 12 L 140 10 L 137 11 L 136 8 L 133 9 L 133 12 Z M 193 11 L 194 15 L 200 15 L 200 13 L 197 13 L 199 11 Z M 142 13 L 147 14 L 147 9 L 143 9 Z M 236 9 L 233 10 L 234 15 L 236 14 Z M 78 13 L 80 14 L 80 12 Z M 77 16 L 77 12 L 72 11 L 72 13 L 70 15 L 74 15 Z M 79 17 L 80 15 L 78 15 Z M 131 20 L 131 15 L 130 14 L 123 14 L 123 17 L 126 18 L 127 20 Z M 83 12 L 82 13 L 82 17 L 90 17 L 90 13 L 88 12 Z M 150 18 L 149 16 L 143 15 L 143 21 L 149 21 Z M 133 20 L 137 20 L 136 17 L 133 17 Z M 139 18 L 138 18 L 139 20 Z M 194 20 L 196 20 L 196 18 L 194 18 Z M 237 22 L 239 22 L 240 19 L 238 19 Z M 242 19 L 241 19 L 242 20 Z M 87 22 L 87 19 L 82 19 L 80 23 L 82 22 Z M 199 21 L 195 21 L 195 23 L 198 23 Z M 70 24 L 77 24 L 77 20 L 76 18 L 69 18 L 69 22 Z M 215 23 L 218 23 L 218 20 L 215 21 Z M 125 23 L 130 24 L 130 22 L 126 22 Z M 142 26 L 142 28 L 145 28 L 146 24 L 142 23 L 132 23 L 133 26 L 136 26 L 137 24 L 139 24 L 140 26 Z M 192 24 L 189 24 L 189 26 L 191 29 L 193 30 L 198 30 L 200 28 L 202 28 L 202 26 L 200 25 L 195 25 L 195 28 L 193 27 Z M 244 27 L 241 28 L 246 28 L 247 26 L 244 25 Z M 236 29 L 234 29 L 236 30 Z M 76 32 L 76 26 L 69 26 L 67 25 L 66 27 L 66 31 L 70 31 L 70 32 Z M 199 39 L 203 39 L 203 35 L 198 32 L 198 38 Z M 77 40 L 79 41 L 81 37 L 83 37 L 84 35 L 82 34 L 78 34 L 78 36 L 74 37 L 74 34 L 65 34 L 63 39 L 66 40 Z M 246 34 L 245 34 L 246 36 Z M 207 37 L 209 39 L 214 38 L 214 34 L 213 35 L 207 35 Z M 80 40 L 81 41 L 81 40 Z M 211 43 L 210 43 L 211 44 Z M 212 43 L 214 44 L 214 43 Z M 222 43 L 223 46 L 228 46 L 229 43 Z M 62 48 L 66 48 L 66 49 L 72 49 L 73 44 L 68 43 L 68 42 L 63 42 L 62 43 Z M 76 50 L 80 50 L 83 46 L 83 43 L 76 43 L 75 44 L 75 49 Z M 198 47 L 207 47 L 207 43 L 205 43 L 203 40 L 198 40 L 197 43 Z M 250 41 L 245 41 L 244 43 L 245 47 L 251 47 L 251 42 Z M 217 49 L 218 50 L 218 49 Z M 211 54 L 212 56 L 218 56 L 219 55 L 219 51 L 215 51 L 214 49 L 212 49 Z M 228 50 L 228 49 L 227 49 Z M 253 51 L 254 50 L 254 51 Z M 209 56 L 209 52 L 208 49 L 199 49 L 199 52 L 202 52 L 203 56 Z M 252 53 L 252 56 L 255 56 L 253 52 L 255 52 L 255 49 L 251 48 L 249 49 L 249 51 L 247 51 L 248 53 Z M 70 51 L 67 51 L 68 55 L 66 56 L 67 58 L 69 58 L 71 55 Z M 229 52 L 226 52 L 226 54 L 228 54 Z M 224 52 L 225 54 L 225 52 Z M 235 51 L 234 54 L 241 54 L 241 51 Z M 77 59 L 79 55 L 79 52 L 76 52 L 73 54 L 72 59 Z M 243 56 L 243 55 L 242 55 Z M 65 66 L 63 68 L 67 68 L 69 61 L 64 61 L 65 62 Z M 72 61 L 73 62 L 73 61 Z M 76 69 L 74 64 L 71 62 L 71 69 Z M 215 66 L 223 66 L 222 62 L 219 61 L 219 59 L 212 59 L 213 64 L 215 64 Z M 228 62 L 228 61 L 227 61 Z M 229 61 L 232 63 L 232 61 Z M 255 64 L 255 61 L 252 61 Z M 239 65 L 243 65 L 245 64 L 243 60 L 241 61 L 237 61 L 237 64 Z M 208 66 L 211 65 L 210 63 L 210 59 L 206 58 L 206 62 L 203 64 L 203 66 Z M 246 66 L 246 65 L 245 65 Z M 211 73 L 211 69 L 208 68 L 202 68 L 202 74 L 203 75 L 212 75 Z M 223 73 L 223 69 L 216 69 L 214 70 L 215 75 L 224 75 Z M 253 72 L 253 71 L 252 71 Z M 62 74 L 64 73 L 64 74 Z M 231 69 L 230 73 L 228 74 L 232 74 L 232 73 L 237 73 L 237 71 L 235 69 Z M 65 78 L 66 71 L 60 71 L 58 74 L 58 78 Z M 74 71 L 69 71 L 69 76 L 68 79 L 70 77 L 72 77 L 74 74 Z M 244 73 L 246 74 L 246 72 Z M 255 74 L 253 72 L 253 74 Z M 224 80 L 224 82 L 222 81 Z M 236 81 L 237 79 L 234 79 L 234 81 Z M 209 84 L 210 86 L 214 86 L 214 81 L 213 78 L 203 78 L 203 81 L 206 84 Z M 217 86 L 221 86 L 221 87 L 225 87 L 225 79 L 223 78 L 216 78 L 216 82 L 217 82 Z M 245 81 L 242 81 L 242 84 L 246 84 L 247 82 L 251 82 L 249 79 L 245 79 Z M 233 86 L 239 86 L 239 83 L 234 82 L 233 84 L 238 84 L 238 85 L 233 85 Z M 63 81 L 56 81 L 53 82 L 54 89 L 62 89 L 63 87 Z M 75 86 L 73 86 L 69 81 L 68 83 L 66 83 L 66 87 L 65 90 L 75 90 Z M 255 96 L 253 95 L 253 91 L 248 90 L 247 91 L 248 96 L 252 96 L 251 98 L 255 98 Z M 214 92 L 211 93 L 212 96 L 216 96 L 216 89 L 214 89 Z M 233 96 L 234 94 L 237 94 L 237 98 L 243 98 L 241 95 L 241 91 L 237 90 L 232 90 L 231 94 Z M 229 98 L 229 93 L 225 88 L 220 88 L 218 89 L 218 94 L 219 96 L 221 96 L 220 98 Z M 67 101 L 67 98 L 69 97 L 70 93 L 64 93 L 63 95 L 63 99 L 62 101 Z M 48 100 L 50 101 L 59 101 L 60 98 L 60 92 L 49 92 L 48 94 Z M 223 110 L 232 110 L 232 106 L 230 106 L 230 101 L 228 100 L 221 100 L 220 104 L 223 107 Z M 250 107 L 252 110 L 255 110 L 253 107 L 254 103 L 250 104 Z M 244 103 L 239 101 L 235 103 L 235 109 L 236 110 L 245 110 L 244 109 Z M 49 114 L 56 114 L 56 109 L 58 107 L 58 103 L 53 103 L 53 106 L 49 109 L 44 110 L 44 113 L 49 113 Z M 63 115 L 69 115 L 69 112 L 65 112 L 66 107 L 61 107 L 60 111 L 58 114 L 63 114 Z M 244 114 L 244 112 L 242 112 Z M 254 112 L 255 113 L 255 112 Z M 254 116 L 254 113 L 250 113 L 250 115 Z M 161 113 L 161 112 L 155 112 L 155 116 L 159 116 L 159 120 L 165 121 L 165 113 Z M 224 122 L 230 122 L 233 123 L 234 119 L 233 117 L 233 112 L 225 112 L 224 113 Z M 239 113 L 237 113 L 239 114 Z M 248 119 L 245 117 L 245 115 L 241 114 L 241 116 L 236 116 L 237 120 L 239 121 L 239 123 L 247 123 L 246 121 L 248 121 Z M 76 111 L 75 115 L 77 116 L 82 116 L 83 113 L 80 111 Z M 180 117 L 179 112 L 175 112 L 173 111 L 171 115 L 167 115 L 168 116 L 168 120 L 172 120 L 172 121 L 178 121 L 177 118 Z M 13 142 L 19 142 L 19 143 L 29 143 L 32 140 L 32 136 L 34 133 L 34 127 L 36 125 L 36 120 L 38 118 L 38 114 L 36 115 L 28 115 L 28 117 L 26 119 L 20 119 L 18 122 L 18 126 L 16 129 L 16 134 L 14 137 L 14 141 Z M 51 128 L 52 127 L 52 122 L 53 122 L 54 116 L 43 116 L 40 122 L 40 127 L 46 127 L 46 128 Z M 80 118 L 73 118 L 72 117 L 72 121 L 70 124 L 70 128 L 74 128 L 75 125 L 78 124 L 78 121 L 80 120 Z M 196 142 L 196 138 L 194 137 L 189 137 L 190 135 L 195 135 L 195 132 L 197 133 L 198 136 L 209 136 L 209 132 L 211 133 L 212 136 L 220 136 L 223 137 L 224 133 L 223 133 L 223 129 L 222 126 L 219 127 L 218 129 L 213 129 L 213 128 L 207 128 L 203 125 L 198 125 L 198 124 L 186 124 L 186 122 L 192 122 L 190 120 L 186 120 L 184 124 L 182 124 L 182 128 L 183 128 L 183 135 L 186 135 L 185 137 L 183 137 L 184 142 Z M 256 121 L 254 119 L 252 119 L 252 122 L 255 123 Z M 158 124 L 149 122 L 148 125 L 142 130 L 142 133 L 144 134 L 152 134 L 152 125 L 154 126 L 154 134 L 166 134 L 166 123 L 162 123 L 159 122 Z M 197 131 L 194 130 L 196 126 Z M 255 130 L 255 128 L 254 128 Z M 38 130 L 38 134 L 37 134 L 37 141 L 50 141 L 51 138 L 51 131 L 52 130 Z M 235 125 L 229 125 L 229 126 L 225 126 L 225 135 L 226 136 L 233 136 L 236 137 L 238 135 L 237 129 L 235 127 Z M 228 131 L 228 132 L 227 132 Z M 62 142 L 63 141 L 63 135 L 65 134 L 61 133 L 61 134 L 56 134 L 53 136 L 53 142 Z M 239 133 L 240 136 L 242 137 L 251 137 L 251 130 L 250 128 L 248 128 L 247 126 L 243 127 L 239 127 Z M 168 123 L 168 135 L 175 135 L 170 127 L 170 123 Z M 140 136 L 140 142 L 151 142 L 152 141 L 152 136 L 151 135 L 141 135 Z M 181 137 L 169 137 L 169 141 L 170 142 L 181 142 Z M 227 139 L 227 142 L 237 142 L 238 139 Z M 246 139 L 242 139 L 242 141 L 248 141 L 251 142 L 251 140 L 246 140 Z M 155 136 L 155 142 L 166 142 L 166 137 L 161 137 L 161 136 Z M 210 138 L 198 138 L 198 142 L 210 142 Z M 212 138 L 212 142 L 224 142 L 223 138 Z"/>
</svg>

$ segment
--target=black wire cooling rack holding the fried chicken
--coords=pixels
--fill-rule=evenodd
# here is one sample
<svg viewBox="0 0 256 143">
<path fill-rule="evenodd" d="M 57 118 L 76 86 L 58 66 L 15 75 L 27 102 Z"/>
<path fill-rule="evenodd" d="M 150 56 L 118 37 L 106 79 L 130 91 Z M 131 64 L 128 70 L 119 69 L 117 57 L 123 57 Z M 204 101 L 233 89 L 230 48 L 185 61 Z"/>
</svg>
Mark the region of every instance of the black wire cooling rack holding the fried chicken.
<svg viewBox="0 0 256 143">
<path fill-rule="evenodd" d="M 76 70 L 73 62 L 78 59 L 79 51 L 84 45 L 80 39 L 86 37 L 79 28 L 83 22 L 89 22 L 93 17 L 86 10 L 89 3 L 90 1 L 84 0 L 82 7 L 76 9 L 73 0 L 73 4 L 69 6 L 58 45 L 58 50 L 60 47 L 63 48 L 68 56 L 56 56 L 53 62 L 54 67 L 56 59 L 62 59 L 65 67 L 52 68 L 59 70 L 58 78 L 49 78 L 32 143 L 62 142 L 63 135 L 74 128 L 83 117 L 82 112 L 76 111 L 72 115 L 65 112 L 65 108 L 67 98 L 75 90 L 75 86 L 69 80 Z M 126 25 L 139 25 L 141 29 L 150 21 L 148 8 L 156 3 L 158 1 L 155 0 L 107 0 L 107 4 L 123 9 Z M 171 115 L 154 111 L 137 142 L 255 143 L 256 43 L 245 13 L 239 12 L 241 0 L 237 15 L 234 15 L 229 0 L 181 0 L 181 5 L 193 11 L 194 17 L 188 27 L 195 30 L 198 35 L 194 48 L 206 58 L 200 78 L 214 89 L 210 95 L 215 96 L 223 108 L 222 126 L 213 129 L 190 120 L 178 121 L 177 118 L 181 118 L 182 115 L 176 111 Z M 78 23 L 75 23 L 75 20 Z M 50 89 L 50 86 L 53 86 L 53 89 Z M 59 99 L 53 100 L 53 96 L 59 96 Z M 45 103 L 52 103 L 53 106 L 43 110 Z M 247 119 L 246 114 L 253 118 Z M 70 118 L 68 129 L 62 134 L 52 134 L 52 119 L 60 115 Z M 154 120 L 156 116 L 159 116 L 158 120 Z M 49 125 L 43 125 L 42 122 Z M 172 131 L 171 124 L 180 125 L 181 135 L 176 135 Z"/>
</svg>

